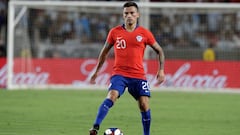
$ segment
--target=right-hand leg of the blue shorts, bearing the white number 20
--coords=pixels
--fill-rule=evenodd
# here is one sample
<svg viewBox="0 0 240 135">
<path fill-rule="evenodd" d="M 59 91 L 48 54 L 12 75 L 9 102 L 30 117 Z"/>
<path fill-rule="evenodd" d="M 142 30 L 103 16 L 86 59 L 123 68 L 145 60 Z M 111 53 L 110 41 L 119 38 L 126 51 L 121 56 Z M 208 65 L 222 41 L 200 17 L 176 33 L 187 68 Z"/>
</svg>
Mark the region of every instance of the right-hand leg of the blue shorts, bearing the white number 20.
<svg viewBox="0 0 240 135">
<path fill-rule="evenodd" d="M 128 92 L 138 100 L 141 96 L 150 97 L 150 87 L 147 80 L 130 79 L 128 84 Z"/>
</svg>

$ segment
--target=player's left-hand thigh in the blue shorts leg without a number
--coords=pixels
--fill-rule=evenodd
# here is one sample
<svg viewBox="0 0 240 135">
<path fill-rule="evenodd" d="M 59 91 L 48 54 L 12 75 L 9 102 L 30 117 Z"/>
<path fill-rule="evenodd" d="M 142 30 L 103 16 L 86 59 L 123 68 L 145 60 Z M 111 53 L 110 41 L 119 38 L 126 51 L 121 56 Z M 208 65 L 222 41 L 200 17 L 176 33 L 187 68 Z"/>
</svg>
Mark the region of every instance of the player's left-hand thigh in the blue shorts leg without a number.
<svg viewBox="0 0 240 135">
<path fill-rule="evenodd" d="M 114 75 L 110 79 L 110 85 L 109 85 L 109 94 L 116 94 L 118 92 L 118 98 L 124 93 L 125 89 L 127 87 L 127 80 L 120 75 Z"/>
</svg>

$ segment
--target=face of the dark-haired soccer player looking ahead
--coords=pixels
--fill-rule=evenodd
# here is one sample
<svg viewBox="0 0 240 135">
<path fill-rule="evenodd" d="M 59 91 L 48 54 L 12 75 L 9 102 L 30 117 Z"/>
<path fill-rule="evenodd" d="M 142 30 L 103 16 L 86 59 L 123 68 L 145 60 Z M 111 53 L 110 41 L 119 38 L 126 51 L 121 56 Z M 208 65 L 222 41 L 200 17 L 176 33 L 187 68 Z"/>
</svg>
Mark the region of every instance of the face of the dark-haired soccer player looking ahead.
<svg viewBox="0 0 240 135">
<path fill-rule="evenodd" d="M 123 19 L 126 25 L 133 25 L 137 23 L 139 12 L 136 7 L 125 7 L 123 9 Z"/>
</svg>

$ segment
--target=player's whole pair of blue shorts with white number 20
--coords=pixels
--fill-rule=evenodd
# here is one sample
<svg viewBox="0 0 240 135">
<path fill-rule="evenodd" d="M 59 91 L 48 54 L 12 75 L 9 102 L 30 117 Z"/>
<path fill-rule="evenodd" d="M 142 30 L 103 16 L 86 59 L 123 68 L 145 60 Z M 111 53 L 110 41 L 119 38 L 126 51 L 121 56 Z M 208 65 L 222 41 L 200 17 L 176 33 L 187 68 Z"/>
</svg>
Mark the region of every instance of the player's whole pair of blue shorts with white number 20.
<svg viewBox="0 0 240 135">
<path fill-rule="evenodd" d="M 114 75 L 110 79 L 108 90 L 117 90 L 119 97 L 128 88 L 128 92 L 136 99 L 140 96 L 151 96 L 150 85 L 147 80 L 124 77 L 121 75 Z"/>
</svg>

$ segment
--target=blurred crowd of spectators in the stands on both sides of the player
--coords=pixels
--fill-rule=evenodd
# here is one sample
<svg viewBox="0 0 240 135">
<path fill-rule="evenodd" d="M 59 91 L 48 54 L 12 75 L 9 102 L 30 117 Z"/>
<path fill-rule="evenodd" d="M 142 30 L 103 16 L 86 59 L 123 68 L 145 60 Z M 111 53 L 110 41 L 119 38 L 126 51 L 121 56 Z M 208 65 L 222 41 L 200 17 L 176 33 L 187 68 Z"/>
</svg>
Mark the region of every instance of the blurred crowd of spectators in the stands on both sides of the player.
<svg viewBox="0 0 240 135">
<path fill-rule="evenodd" d="M 71 0 L 73 1 L 73 0 Z M 91 0 L 92 1 L 92 0 Z M 121 0 L 107 0 L 121 1 Z M 151 2 L 240 2 L 239 0 L 151 0 Z M 7 0 L 0 1 L 0 56 L 6 55 Z M 240 11 L 207 14 L 161 14 L 150 16 L 150 28 L 164 48 L 240 48 Z M 53 12 L 30 9 L 26 26 L 32 46 L 38 30 L 40 42 L 81 45 L 104 42 L 107 32 L 122 23 L 119 14 Z M 5 30 L 3 30 L 5 29 Z M 96 36 L 97 35 L 97 36 Z M 34 50 L 34 49 L 33 49 Z"/>
</svg>

